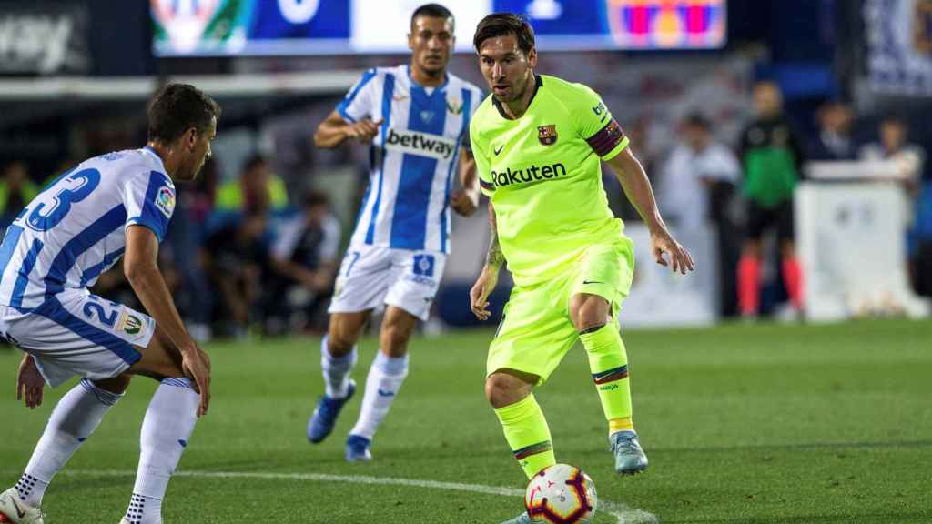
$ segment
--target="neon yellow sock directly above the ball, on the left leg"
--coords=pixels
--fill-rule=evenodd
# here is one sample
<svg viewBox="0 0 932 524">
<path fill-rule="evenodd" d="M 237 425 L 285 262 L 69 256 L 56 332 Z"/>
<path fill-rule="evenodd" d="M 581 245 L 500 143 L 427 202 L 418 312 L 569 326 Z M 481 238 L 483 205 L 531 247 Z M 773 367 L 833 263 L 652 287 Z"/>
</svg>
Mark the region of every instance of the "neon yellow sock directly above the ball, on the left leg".
<svg viewBox="0 0 932 524">
<path fill-rule="evenodd" d="M 512 405 L 496 409 L 495 414 L 499 416 L 501 429 L 514 458 L 528 478 L 556 463 L 550 428 L 533 394 L 528 394 Z"/>
</svg>

